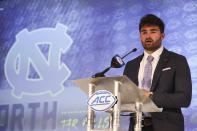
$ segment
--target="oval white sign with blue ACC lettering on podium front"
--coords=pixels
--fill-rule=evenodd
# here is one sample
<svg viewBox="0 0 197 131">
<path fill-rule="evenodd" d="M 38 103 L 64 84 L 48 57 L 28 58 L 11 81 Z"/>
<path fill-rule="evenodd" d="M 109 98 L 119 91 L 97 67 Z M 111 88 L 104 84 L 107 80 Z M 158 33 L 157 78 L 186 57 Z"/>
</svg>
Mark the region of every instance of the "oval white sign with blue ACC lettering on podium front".
<svg viewBox="0 0 197 131">
<path fill-rule="evenodd" d="M 117 101 L 116 97 L 109 91 L 101 90 L 95 92 L 88 100 L 88 105 L 94 111 L 107 111 Z"/>
</svg>

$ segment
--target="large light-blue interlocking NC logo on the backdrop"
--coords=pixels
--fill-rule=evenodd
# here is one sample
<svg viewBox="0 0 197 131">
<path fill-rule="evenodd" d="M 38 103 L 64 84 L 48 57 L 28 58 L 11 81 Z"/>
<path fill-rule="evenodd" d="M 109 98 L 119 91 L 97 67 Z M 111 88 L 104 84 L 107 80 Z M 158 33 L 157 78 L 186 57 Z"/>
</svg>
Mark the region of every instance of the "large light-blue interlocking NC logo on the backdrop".
<svg viewBox="0 0 197 131">
<path fill-rule="evenodd" d="M 24 29 L 16 35 L 16 42 L 9 50 L 4 65 L 13 96 L 22 98 L 24 94 L 46 93 L 56 96 L 64 90 L 63 83 L 71 72 L 61 62 L 61 54 L 66 53 L 73 42 L 66 31 L 67 27 L 58 23 L 55 28 L 31 32 Z M 41 48 L 43 45 L 49 47 L 48 56 Z"/>
</svg>

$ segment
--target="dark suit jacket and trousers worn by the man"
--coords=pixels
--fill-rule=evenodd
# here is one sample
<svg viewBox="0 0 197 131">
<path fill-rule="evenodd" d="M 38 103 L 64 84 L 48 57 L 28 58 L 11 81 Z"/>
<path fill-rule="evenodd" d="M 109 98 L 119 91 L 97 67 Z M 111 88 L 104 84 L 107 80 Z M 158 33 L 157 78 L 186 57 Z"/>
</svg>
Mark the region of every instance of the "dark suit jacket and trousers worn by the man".
<svg viewBox="0 0 197 131">
<path fill-rule="evenodd" d="M 124 70 L 136 85 L 138 71 L 143 55 L 129 61 Z M 164 48 L 156 66 L 151 91 L 152 100 L 162 112 L 151 113 L 154 131 L 184 131 L 184 118 L 181 107 L 188 107 L 191 102 L 192 84 L 190 69 L 184 56 Z M 130 131 L 133 130 L 133 119 Z"/>
</svg>

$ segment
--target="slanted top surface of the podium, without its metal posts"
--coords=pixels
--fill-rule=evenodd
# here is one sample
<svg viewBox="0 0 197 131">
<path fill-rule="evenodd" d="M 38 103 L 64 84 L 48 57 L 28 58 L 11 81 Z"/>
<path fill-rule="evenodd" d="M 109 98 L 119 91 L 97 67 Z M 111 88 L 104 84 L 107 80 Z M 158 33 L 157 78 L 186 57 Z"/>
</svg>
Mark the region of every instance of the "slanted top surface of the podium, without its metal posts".
<svg viewBox="0 0 197 131">
<path fill-rule="evenodd" d="M 127 76 L 98 77 L 72 80 L 83 92 L 88 95 L 89 84 L 93 84 L 95 91 L 107 90 L 114 94 L 115 81 L 120 82 L 120 97 L 123 112 L 134 111 L 136 102 L 143 104 L 143 112 L 160 112 L 153 101 L 147 97 Z M 128 106 L 129 105 L 129 106 Z M 131 106 L 132 105 L 132 106 Z"/>
</svg>

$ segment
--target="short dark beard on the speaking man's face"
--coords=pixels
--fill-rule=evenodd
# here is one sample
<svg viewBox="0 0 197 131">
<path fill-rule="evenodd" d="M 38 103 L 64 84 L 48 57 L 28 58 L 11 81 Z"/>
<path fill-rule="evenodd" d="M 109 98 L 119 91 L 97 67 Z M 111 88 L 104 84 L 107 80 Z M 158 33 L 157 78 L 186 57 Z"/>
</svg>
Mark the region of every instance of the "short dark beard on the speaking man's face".
<svg viewBox="0 0 197 131">
<path fill-rule="evenodd" d="M 154 52 L 161 47 L 161 37 L 159 39 L 157 39 L 156 41 L 152 40 L 151 46 L 147 46 L 146 42 L 142 42 L 142 46 L 144 47 L 145 50 Z"/>
</svg>

